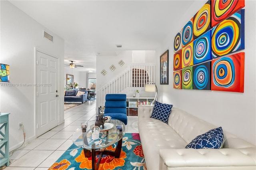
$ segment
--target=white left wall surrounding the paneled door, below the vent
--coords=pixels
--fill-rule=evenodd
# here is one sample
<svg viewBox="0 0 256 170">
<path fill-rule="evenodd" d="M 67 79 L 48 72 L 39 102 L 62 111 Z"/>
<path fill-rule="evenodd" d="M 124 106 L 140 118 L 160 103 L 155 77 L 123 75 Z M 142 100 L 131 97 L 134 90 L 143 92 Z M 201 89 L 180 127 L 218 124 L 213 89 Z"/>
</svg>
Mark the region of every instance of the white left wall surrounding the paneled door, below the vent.
<svg viewBox="0 0 256 170">
<path fill-rule="evenodd" d="M 0 61 L 10 65 L 10 83 L 35 83 L 35 52 L 37 47 L 59 58 L 59 65 L 64 65 L 64 40 L 54 36 L 54 42 L 43 38 L 46 29 L 8 1 L 1 4 L 1 52 Z M 63 89 L 64 67 L 60 67 L 59 89 Z M 35 138 L 35 87 L 1 87 L 0 109 L 10 113 L 9 137 L 10 150 L 23 142 L 22 130 L 18 123 L 23 122 L 26 141 Z M 59 122 L 64 121 L 64 97 L 59 93 Z"/>
</svg>

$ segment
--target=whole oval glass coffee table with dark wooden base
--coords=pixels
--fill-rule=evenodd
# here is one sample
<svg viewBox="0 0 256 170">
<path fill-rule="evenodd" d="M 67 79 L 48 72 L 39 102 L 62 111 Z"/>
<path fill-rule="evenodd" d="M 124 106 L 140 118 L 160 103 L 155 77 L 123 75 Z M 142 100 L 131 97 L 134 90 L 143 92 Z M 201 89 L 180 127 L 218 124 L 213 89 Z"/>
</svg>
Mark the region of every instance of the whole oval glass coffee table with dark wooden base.
<svg viewBox="0 0 256 170">
<path fill-rule="evenodd" d="M 95 121 L 81 123 L 81 128 L 78 128 L 72 135 L 72 142 L 84 149 L 86 158 L 92 157 L 92 170 L 98 170 L 102 155 L 120 157 L 125 125 L 122 121 L 110 119 L 109 122 L 104 123 L 104 128 L 100 126 L 99 138 L 93 139 L 94 134 L 91 128 L 94 127 L 94 124 Z M 116 142 L 118 144 L 115 151 L 106 150 L 108 146 Z M 96 155 L 99 155 L 98 162 L 96 162 Z"/>
</svg>

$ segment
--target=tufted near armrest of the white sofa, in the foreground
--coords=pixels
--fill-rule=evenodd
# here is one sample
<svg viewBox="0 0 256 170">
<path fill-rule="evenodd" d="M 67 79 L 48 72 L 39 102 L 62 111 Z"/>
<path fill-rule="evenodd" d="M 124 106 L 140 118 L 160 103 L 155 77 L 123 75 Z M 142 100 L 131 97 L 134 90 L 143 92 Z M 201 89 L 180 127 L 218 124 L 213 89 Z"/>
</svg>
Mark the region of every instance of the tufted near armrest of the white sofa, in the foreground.
<svg viewBox="0 0 256 170">
<path fill-rule="evenodd" d="M 256 166 L 254 148 L 221 149 L 161 149 L 159 166 L 203 167 L 203 166 Z"/>
</svg>

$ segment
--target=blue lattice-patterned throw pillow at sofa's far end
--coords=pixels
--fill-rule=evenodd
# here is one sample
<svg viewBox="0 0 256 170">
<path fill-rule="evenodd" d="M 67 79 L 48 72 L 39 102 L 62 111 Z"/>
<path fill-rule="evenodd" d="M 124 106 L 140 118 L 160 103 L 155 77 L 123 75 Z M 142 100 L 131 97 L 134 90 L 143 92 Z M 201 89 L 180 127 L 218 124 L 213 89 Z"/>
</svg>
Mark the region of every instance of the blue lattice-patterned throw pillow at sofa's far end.
<svg viewBox="0 0 256 170">
<path fill-rule="evenodd" d="M 151 118 L 158 119 L 168 124 L 168 119 L 172 111 L 172 106 L 169 104 L 160 103 L 155 101 Z"/>
</svg>

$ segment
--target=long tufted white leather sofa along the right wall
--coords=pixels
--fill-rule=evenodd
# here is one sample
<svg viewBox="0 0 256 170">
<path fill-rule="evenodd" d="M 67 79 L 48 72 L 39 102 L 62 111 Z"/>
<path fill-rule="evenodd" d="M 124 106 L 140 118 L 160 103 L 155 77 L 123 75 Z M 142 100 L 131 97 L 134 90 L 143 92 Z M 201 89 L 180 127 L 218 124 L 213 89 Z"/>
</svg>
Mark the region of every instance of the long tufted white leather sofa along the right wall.
<svg viewBox="0 0 256 170">
<path fill-rule="evenodd" d="M 172 107 L 168 125 L 150 118 L 153 106 L 138 106 L 138 130 L 148 170 L 256 170 L 254 145 L 224 131 L 220 149 L 185 148 L 214 125 Z"/>
</svg>

